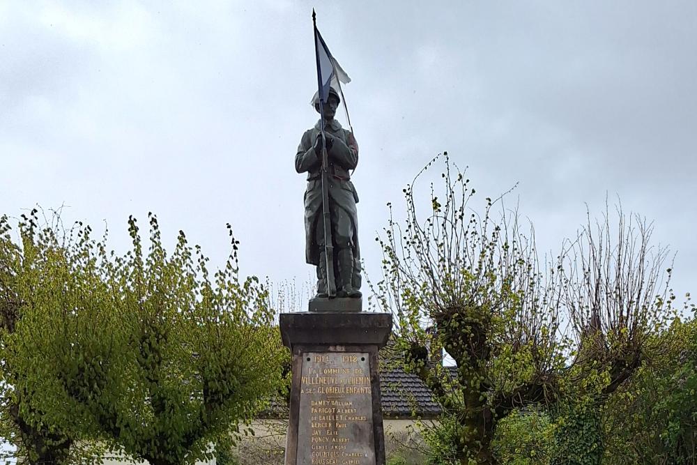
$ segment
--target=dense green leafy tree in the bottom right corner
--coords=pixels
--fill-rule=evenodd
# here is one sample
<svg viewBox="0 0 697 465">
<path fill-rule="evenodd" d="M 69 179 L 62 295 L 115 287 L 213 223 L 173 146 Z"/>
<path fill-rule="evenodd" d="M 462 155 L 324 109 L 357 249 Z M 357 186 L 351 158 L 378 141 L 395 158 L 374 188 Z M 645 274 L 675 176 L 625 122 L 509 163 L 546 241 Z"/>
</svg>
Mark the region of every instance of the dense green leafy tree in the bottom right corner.
<svg viewBox="0 0 697 465">
<path fill-rule="evenodd" d="M 697 320 L 675 321 L 657 338 L 664 352 L 606 404 L 605 464 L 697 462 Z"/>
</svg>

